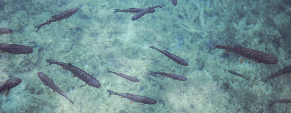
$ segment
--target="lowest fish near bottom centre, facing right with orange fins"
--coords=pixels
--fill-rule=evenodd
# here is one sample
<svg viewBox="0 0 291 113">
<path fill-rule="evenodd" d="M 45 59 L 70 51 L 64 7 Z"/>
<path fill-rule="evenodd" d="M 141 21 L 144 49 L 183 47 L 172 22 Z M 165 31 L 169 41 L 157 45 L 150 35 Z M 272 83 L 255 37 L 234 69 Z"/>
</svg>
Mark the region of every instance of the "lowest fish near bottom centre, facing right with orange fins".
<svg viewBox="0 0 291 113">
<path fill-rule="evenodd" d="M 134 102 L 137 103 L 141 103 L 139 105 L 145 105 L 145 104 L 156 104 L 157 100 L 153 99 L 153 98 L 149 98 L 146 96 L 140 96 L 140 95 L 133 95 L 133 94 L 129 94 L 129 93 L 116 93 L 114 91 L 111 91 L 109 89 L 107 89 L 107 92 L 110 93 L 109 95 L 118 95 L 121 96 L 121 98 L 127 98 L 129 100 L 131 100 L 131 104 Z"/>
</svg>

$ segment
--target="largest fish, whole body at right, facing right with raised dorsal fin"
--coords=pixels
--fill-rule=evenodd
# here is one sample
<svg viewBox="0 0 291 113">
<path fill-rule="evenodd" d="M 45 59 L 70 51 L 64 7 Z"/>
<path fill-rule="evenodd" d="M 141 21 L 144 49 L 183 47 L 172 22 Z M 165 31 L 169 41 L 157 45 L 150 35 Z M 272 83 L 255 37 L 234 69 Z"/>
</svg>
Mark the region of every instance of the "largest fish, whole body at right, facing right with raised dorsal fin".
<svg viewBox="0 0 291 113">
<path fill-rule="evenodd" d="M 250 59 L 253 63 L 264 63 L 264 64 L 276 64 L 278 63 L 278 59 L 274 56 L 267 54 L 265 52 L 261 52 L 258 50 L 253 50 L 250 48 L 242 47 L 239 44 L 236 45 L 216 45 L 212 43 L 204 42 L 204 44 L 209 47 L 209 51 L 213 49 L 223 49 L 224 52 L 233 52 L 239 55 L 239 64 L 242 64 L 245 59 Z M 208 53 L 207 52 L 207 53 Z"/>
</svg>

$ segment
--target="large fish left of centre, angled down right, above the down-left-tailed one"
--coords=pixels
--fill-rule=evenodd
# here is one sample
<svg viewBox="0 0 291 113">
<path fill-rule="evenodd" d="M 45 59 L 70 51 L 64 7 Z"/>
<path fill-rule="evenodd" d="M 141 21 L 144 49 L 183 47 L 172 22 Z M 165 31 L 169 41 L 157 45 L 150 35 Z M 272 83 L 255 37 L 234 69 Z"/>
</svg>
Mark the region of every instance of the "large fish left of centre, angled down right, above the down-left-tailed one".
<svg viewBox="0 0 291 113">
<path fill-rule="evenodd" d="M 79 79 L 81 79 L 82 81 L 84 81 L 86 84 L 88 84 L 89 86 L 95 87 L 95 88 L 100 88 L 101 84 L 100 82 L 93 77 L 93 74 L 90 75 L 89 73 L 87 73 L 84 70 L 81 70 L 80 68 L 73 66 L 71 63 L 63 63 L 63 62 L 58 62 L 58 61 L 54 61 L 51 59 L 46 59 L 47 66 L 52 65 L 52 64 L 56 64 L 59 66 L 62 66 L 64 70 L 70 70 L 73 73 L 73 77 L 78 77 Z M 83 87 L 86 84 L 80 86 Z"/>
</svg>

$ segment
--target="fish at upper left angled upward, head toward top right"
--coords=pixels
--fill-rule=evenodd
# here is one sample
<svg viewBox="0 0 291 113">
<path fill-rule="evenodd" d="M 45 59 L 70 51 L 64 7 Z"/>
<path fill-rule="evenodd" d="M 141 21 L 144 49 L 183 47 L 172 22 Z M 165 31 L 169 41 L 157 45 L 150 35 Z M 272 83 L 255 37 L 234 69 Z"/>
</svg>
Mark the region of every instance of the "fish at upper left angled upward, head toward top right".
<svg viewBox="0 0 291 113">
<path fill-rule="evenodd" d="M 79 8 L 71 8 L 71 9 L 65 10 L 64 12 L 62 12 L 62 13 L 60 13 L 58 15 L 52 16 L 51 19 L 43 22 L 42 24 L 39 24 L 39 25 L 35 26 L 34 28 L 37 28 L 37 30 L 36 30 L 36 32 L 37 32 L 42 26 L 44 26 L 46 24 L 49 25 L 52 22 L 57 22 L 57 21 L 59 21 L 58 23 L 60 24 L 61 20 L 68 19 L 69 17 L 74 15 L 78 10 L 79 10 Z"/>
</svg>

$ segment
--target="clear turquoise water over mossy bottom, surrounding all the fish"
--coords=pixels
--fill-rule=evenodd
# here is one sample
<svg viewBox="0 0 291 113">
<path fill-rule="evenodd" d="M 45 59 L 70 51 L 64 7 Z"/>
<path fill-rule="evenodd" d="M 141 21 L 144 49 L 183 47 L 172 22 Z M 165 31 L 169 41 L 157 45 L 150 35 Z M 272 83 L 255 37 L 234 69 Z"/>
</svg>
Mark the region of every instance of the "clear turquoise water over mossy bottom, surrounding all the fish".
<svg viewBox="0 0 291 113">
<path fill-rule="evenodd" d="M 165 4 L 163 9 L 132 21 L 132 13 L 113 13 L 117 9 L 150 7 Z M 34 26 L 51 16 L 78 7 L 79 11 L 60 24 Z M 290 65 L 289 0 L 194 1 L 178 0 L 72 0 L 72 1 L 0 1 L 0 28 L 13 30 L 0 35 L 1 43 L 27 45 L 31 54 L 1 53 L 1 81 L 21 78 L 22 83 L 4 98 L 0 93 L 1 113 L 279 113 L 290 112 L 291 104 L 269 100 L 290 97 L 290 77 L 261 78 Z M 238 55 L 215 49 L 207 53 L 203 42 L 235 45 L 274 55 L 279 63 L 267 65 L 246 60 L 239 65 Z M 185 59 L 181 66 L 149 46 L 167 50 Z M 52 59 L 92 74 L 101 87 L 85 83 Z M 139 78 L 128 82 L 107 69 Z M 231 75 L 227 70 L 250 78 Z M 188 78 L 176 81 L 148 71 L 175 73 Z M 60 94 L 45 88 L 37 73 L 43 72 L 74 101 L 72 105 Z M 106 89 L 147 96 L 155 105 L 130 104 L 130 100 L 110 95 Z"/>
</svg>

